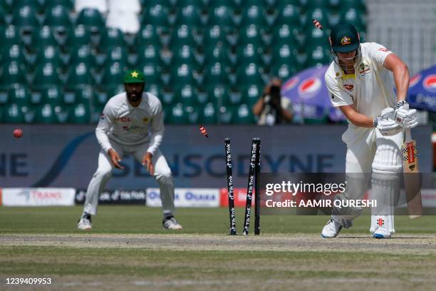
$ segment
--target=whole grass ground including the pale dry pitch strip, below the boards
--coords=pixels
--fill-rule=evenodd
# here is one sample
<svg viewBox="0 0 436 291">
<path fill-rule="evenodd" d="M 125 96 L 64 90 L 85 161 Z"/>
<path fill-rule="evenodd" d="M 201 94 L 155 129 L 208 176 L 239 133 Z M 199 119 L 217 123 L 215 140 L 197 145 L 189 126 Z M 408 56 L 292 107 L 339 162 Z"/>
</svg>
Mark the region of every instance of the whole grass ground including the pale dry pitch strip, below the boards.
<svg viewBox="0 0 436 291">
<path fill-rule="evenodd" d="M 398 239 L 371 239 L 366 215 L 339 238 L 323 240 L 319 233 L 328 217 L 321 215 L 262 216 L 261 235 L 246 238 L 226 235 L 227 208 L 180 208 L 176 218 L 184 230 L 176 233 L 162 229 L 159 208 L 104 205 L 93 217 L 93 230 L 79 232 L 81 210 L 0 208 L 0 290 L 6 277 L 51 277 L 46 290 L 87 291 L 398 291 L 436 284 L 431 216 L 396 218 Z M 243 211 L 237 210 L 239 233 Z M 121 242 L 98 245 L 101 238 Z"/>
</svg>

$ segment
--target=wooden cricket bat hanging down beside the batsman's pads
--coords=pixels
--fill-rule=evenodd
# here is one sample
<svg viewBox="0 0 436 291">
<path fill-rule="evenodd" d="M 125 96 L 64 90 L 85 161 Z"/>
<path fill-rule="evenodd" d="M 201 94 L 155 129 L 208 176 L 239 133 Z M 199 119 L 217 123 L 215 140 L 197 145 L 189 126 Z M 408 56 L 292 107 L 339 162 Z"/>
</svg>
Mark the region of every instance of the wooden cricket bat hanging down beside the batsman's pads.
<svg viewBox="0 0 436 291">
<path fill-rule="evenodd" d="M 410 128 L 405 130 L 401 153 L 403 153 L 404 188 L 408 200 L 409 218 L 419 218 L 422 216 L 420 168 L 416 141 L 412 140 Z"/>
</svg>

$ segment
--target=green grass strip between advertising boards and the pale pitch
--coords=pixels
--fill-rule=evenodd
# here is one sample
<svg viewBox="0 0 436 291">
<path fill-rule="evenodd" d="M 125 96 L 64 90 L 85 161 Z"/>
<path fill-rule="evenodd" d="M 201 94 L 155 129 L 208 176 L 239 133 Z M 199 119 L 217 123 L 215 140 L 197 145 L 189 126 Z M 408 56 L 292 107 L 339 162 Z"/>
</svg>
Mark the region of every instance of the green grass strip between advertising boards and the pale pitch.
<svg viewBox="0 0 436 291">
<path fill-rule="evenodd" d="M 41 207 L 0 208 L 1 233 L 81 233 L 76 223 L 83 208 Z M 227 208 L 180 208 L 176 218 L 183 225 L 182 233 L 226 234 L 229 228 Z M 244 209 L 237 208 L 237 227 L 242 230 Z M 320 233 L 327 222 L 325 215 L 262 215 L 263 234 Z M 251 227 L 254 220 L 251 223 Z M 355 219 L 353 228 L 343 233 L 368 233 L 370 216 Z M 408 216 L 395 218 L 398 233 L 436 233 L 435 217 L 425 216 L 410 220 Z M 162 229 L 160 208 L 145 206 L 106 206 L 98 208 L 93 217 L 92 233 L 168 233 Z M 241 231 L 239 231 L 241 233 Z"/>
</svg>

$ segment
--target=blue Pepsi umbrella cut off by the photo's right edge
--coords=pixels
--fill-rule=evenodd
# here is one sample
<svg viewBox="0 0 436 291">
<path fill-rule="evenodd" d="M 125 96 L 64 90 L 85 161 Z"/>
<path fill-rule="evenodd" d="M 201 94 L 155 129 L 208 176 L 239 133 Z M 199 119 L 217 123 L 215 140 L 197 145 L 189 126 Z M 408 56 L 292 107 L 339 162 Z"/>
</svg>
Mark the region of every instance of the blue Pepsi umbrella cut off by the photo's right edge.
<svg viewBox="0 0 436 291">
<path fill-rule="evenodd" d="M 414 108 L 436 111 L 436 66 L 410 78 L 408 101 Z"/>
</svg>

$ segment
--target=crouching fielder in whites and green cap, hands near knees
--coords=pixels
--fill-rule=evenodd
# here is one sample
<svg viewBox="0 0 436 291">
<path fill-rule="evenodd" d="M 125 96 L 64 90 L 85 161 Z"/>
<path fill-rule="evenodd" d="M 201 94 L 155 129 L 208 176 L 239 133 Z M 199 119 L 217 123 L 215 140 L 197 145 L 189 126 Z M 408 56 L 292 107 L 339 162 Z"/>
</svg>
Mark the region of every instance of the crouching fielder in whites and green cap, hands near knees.
<svg viewBox="0 0 436 291">
<path fill-rule="evenodd" d="M 163 227 L 181 230 L 182 225 L 173 216 L 174 180 L 167 160 L 159 150 L 165 131 L 162 104 L 156 96 L 143 92 L 145 78 L 142 72 L 127 71 L 124 85 L 125 93 L 110 98 L 95 128 L 95 136 L 101 146 L 98 168 L 88 185 L 77 228 L 91 229 L 91 215 L 97 213 L 98 196 L 110 179 L 113 168 L 123 169 L 121 158 L 130 154 L 147 168 L 160 185 Z"/>
</svg>

